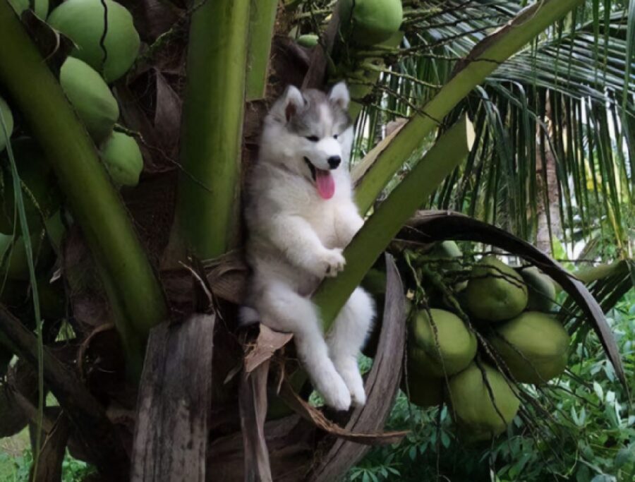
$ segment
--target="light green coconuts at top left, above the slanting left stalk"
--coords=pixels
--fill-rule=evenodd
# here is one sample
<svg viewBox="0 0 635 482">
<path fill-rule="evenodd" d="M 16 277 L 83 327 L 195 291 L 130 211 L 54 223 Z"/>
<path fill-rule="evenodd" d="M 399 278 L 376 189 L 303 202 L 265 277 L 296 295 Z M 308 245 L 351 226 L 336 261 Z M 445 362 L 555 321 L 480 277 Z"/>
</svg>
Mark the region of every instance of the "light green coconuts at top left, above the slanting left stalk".
<svg viewBox="0 0 635 482">
<path fill-rule="evenodd" d="M 29 0 L 11 0 L 11 4 L 18 15 L 30 6 Z M 66 0 L 50 13 L 47 0 L 36 0 L 33 10 L 75 44 L 60 69 L 61 88 L 99 148 L 116 186 L 136 186 L 143 170 L 143 157 L 133 137 L 113 131 L 119 119 L 119 105 L 108 84 L 131 68 L 140 39 L 131 13 L 116 1 L 105 0 L 105 4 L 108 28 L 103 40 L 102 0 Z M 0 146 L 3 141 L 0 135 Z"/>
</svg>

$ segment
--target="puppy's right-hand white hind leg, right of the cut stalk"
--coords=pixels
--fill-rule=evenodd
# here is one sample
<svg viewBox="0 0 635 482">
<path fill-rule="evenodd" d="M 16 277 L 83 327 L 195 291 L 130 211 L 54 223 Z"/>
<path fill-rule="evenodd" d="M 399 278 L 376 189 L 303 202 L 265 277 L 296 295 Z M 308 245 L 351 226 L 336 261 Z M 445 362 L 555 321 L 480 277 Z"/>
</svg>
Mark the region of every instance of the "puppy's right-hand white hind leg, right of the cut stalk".
<svg viewBox="0 0 635 482">
<path fill-rule="evenodd" d="M 344 378 L 353 396 L 353 404 L 366 403 L 364 382 L 357 366 L 357 356 L 368 336 L 375 316 L 375 303 L 366 291 L 357 288 L 339 315 L 329 335 L 327 344 L 337 372 Z"/>
</svg>

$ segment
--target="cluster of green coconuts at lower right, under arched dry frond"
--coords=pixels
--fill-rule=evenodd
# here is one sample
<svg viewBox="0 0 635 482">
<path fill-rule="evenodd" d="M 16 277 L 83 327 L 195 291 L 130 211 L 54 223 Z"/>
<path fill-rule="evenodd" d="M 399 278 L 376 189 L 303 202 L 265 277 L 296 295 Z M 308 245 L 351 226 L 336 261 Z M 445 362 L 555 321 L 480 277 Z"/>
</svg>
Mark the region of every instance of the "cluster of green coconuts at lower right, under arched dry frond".
<svg viewBox="0 0 635 482">
<path fill-rule="evenodd" d="M 452 265 L 460 256 L 445 241 L 420 262 L 442 257 Z M 454 291 L 469 322 L 442 308 L 411 313 L 402 387 L 418 406 L 449 404 L 469 439 L 486 440 L 516 416 L 516 382 L 540 385 L 564 371 L 569 335 L 550 314 L 555 285 L 536 267 L 516 271 L 488 255 Z"/>
</svg>

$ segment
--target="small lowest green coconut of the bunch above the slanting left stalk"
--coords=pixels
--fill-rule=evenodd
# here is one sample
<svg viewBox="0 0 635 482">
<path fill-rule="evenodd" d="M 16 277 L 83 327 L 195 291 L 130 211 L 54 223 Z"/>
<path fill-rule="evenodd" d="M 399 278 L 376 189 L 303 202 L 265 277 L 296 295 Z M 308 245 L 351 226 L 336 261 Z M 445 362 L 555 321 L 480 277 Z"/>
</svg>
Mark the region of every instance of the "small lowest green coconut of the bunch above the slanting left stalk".
<svg viewBox="0 0 635 482">
<path fill-rule="evenodd" d="M 130 135 L 114 132 L 101 149 L 106 169 L 118 186 L 136 186 L 143 171 L 143 157 L 137 141 Z"/>
</svg>

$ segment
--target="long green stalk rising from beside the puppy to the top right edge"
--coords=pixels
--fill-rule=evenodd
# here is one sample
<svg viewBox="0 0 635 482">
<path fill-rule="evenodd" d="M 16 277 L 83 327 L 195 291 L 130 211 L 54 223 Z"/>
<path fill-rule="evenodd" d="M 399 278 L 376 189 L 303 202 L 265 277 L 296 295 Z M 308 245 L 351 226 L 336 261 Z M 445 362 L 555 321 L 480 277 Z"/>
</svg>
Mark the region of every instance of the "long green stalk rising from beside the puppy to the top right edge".
<svg viewBox="0 0 635 482">
<path fill-rule="evenodd" d="M 466 59 L 459 62 L 452 79 L 401 128 L 365 172 L 356 190 L 361 212 L 368 211 L 397 169 L 421 145 L 421 140 L 440 125 L 461 99 L 536 35 L 582 3 L 583 0 L 538 1 L 504 28 L 476 44 Z"/>
</svg>

